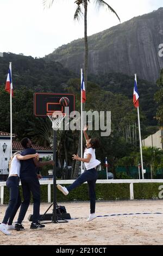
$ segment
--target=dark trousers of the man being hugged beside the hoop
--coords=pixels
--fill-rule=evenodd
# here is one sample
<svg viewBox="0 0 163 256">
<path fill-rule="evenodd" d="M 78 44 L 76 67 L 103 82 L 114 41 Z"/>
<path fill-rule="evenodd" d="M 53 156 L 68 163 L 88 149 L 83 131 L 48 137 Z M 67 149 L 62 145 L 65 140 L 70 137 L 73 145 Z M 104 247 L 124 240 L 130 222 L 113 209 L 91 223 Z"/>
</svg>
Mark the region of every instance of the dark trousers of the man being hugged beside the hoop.
<svg viewBox="0 0 163 256">
<path fill-rule="evenodd" d="M 33 222 L 39 221 L 40 215 L 40 183 L 37 177 L 27 176 L 21 179 L 24 201 L 21 205 L 17 223 L 22 223 L 30 203 L 30 192 L 33 196 Z"/>
</svg>

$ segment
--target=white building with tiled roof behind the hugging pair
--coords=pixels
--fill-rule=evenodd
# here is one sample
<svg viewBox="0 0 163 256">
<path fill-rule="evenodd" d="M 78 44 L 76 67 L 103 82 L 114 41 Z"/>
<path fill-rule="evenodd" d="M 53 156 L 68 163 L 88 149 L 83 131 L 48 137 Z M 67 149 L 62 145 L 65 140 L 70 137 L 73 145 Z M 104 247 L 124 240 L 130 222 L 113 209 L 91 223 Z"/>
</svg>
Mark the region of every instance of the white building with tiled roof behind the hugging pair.
<svg viewBox="0 0 163 256">
<path fill-rule="evenodd" d="M 10 133 L 0 131 L 0 175 L 9 174 L 9 161 L 10 161 Z M 53 150 L 49 147 L 42 147 L 39 145 L 32 145 L 42 157 L 53 156 Z M 19 141 L 16 141 L 16 135 L 12 134 L 12 155 L 16 151 L 22 151 L 23 147 Z"/>
</svg>

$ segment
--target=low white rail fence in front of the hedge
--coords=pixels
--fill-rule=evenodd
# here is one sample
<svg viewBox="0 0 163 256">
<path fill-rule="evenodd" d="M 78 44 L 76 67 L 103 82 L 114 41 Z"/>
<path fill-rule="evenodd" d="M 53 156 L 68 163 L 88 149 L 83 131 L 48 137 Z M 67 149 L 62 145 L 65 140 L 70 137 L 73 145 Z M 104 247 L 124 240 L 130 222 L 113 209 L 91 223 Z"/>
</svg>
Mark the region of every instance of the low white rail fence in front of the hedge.
<svg viewBox="0 0 163 256">
<path fill-rule="evenodd" d="M 57 180 L 57 184 L 72 184 L 74 180 Z M 85 182 L 86 183 L 86 182 Z M 163 179 L 159 180 L 97 180 L 98 184 L 107 184 L 107 183 L 128 183 L 130 184 L 130 200 L 134 200 L 134 183 L 163 183 Z M 20 183 L 21 185 L 21 183 Z M 53 180 L 40 180 L 40 185 L 48 185 L 48 203 L 51 203 L 51 185 L 53 185 Z M 6 186 L 5 181 L 0 182 L 1 188 L 1 202 L 4 202 L 4 186 Z"/>
</svg>

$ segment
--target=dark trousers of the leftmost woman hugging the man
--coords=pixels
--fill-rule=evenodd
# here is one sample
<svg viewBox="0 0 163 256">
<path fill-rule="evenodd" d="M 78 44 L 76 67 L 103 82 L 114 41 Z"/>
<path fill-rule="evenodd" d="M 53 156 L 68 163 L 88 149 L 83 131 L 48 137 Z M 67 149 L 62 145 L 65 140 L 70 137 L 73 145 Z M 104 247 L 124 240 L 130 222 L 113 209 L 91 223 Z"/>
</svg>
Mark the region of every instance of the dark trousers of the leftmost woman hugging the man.
<svg viewBox="0 0 163 256">
<path fill-rule="evenodd" d="M 18 208 L 21 205 L 21 197 L 19 192 L 19 181 L 20 179 L 17 176 L 10 176 L 7 179 L 7 187 L 10 190 L 10 200 L 7 210 L 5 211 L 5 215 L 2 223 L 12 225 L 12 221 L 16 215 Z"/>
</svg>

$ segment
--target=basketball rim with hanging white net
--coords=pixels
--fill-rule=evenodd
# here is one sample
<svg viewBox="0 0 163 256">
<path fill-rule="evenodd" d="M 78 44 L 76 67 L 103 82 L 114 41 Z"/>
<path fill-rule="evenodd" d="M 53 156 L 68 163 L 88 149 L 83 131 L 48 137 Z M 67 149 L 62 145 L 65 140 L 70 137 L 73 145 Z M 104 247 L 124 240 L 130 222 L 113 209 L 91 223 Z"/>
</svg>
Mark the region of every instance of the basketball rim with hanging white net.
<svg viewBox="0 0 163 256">
<path fill-rule="evenodd" d="M 47 113 L 47 116 L 52 121 L 53 130 L 57 130 L 61 127 L 61 123 L 65 118 L 65 113 L 54 111 L 53 113 Z"/>
</svg>

